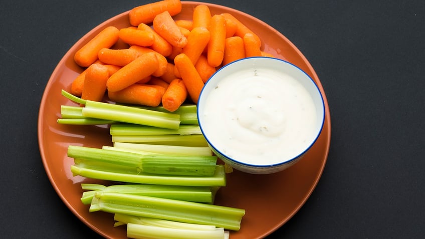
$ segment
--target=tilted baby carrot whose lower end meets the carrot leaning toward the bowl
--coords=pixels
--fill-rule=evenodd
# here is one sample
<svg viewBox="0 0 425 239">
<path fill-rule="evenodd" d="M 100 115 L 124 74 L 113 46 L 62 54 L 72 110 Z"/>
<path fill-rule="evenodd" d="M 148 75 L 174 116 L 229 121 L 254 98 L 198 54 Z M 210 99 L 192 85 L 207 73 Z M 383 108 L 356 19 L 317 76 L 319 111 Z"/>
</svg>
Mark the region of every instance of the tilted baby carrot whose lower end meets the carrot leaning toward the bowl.
<svg viewBox="0 0 425 239">
<path fill-rule="evenodd" d="M 196 64 L 199 56 L 208 45 L 209 36 L 209 31 L 204 27 L 196 27 L 190 31 L 187 38 L 187 44 L 183 47 L 181 53 L 186 54 L 193 65 Z"/>
</svg>

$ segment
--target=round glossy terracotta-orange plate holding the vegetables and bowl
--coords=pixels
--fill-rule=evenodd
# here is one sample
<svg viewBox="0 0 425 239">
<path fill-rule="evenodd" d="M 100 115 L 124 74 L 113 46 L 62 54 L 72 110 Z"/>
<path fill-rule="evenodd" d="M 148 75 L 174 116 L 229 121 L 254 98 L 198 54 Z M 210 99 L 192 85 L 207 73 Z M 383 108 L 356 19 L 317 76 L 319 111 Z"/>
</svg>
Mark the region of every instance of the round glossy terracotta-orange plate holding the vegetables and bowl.
<svg viewBox="0 0 425 239">
<path fill-rule="evenodd" d="M 191 19 L 193 8 L 201 3 L 183 2 L 182 12 L 175 19 Z M 235 171 L 228 174 L 228 185 L 220 189 L 216 204 L 246 209 L 241 230 L 232 231 L 231 238 L 262 238 L 288 221 L 305 203 L 315 188 L 326 163 L 330 145 L 330 115 L 323 87 L 303 54 L 282 34 L 266 23 L 223 6 L 206 4 L 211 14 L 231 13 L 254 31 L 263 42 L 262 50 L 287 60 L 309 74 L 319 86 L 325 100 L 326 118 L 322 133 L 308 154 L 294 166 L 270 175 L 251 175 Z M 100 24 L 81 38 L 62 58 L 54 70 L 40 105 L 38 139 L 46 173 L 58 195 L 69 209 L 85 224 L 107 238 L 126 238 L 125 227 L 113 227 L 113 215 L 90 213 L 80 201 L 81 182 L 100 182 L 73 176 L 67 157 L 68 145 L 101 147 L 111 145 L 107 127 L 59 125 L 61 105 L 73 105 L 61 95 L 70 91 L 71 82 L 82 68 L 73 60 L 75 52 L 106 26 L 129 26 L 128 12 Z"/>
</svg>

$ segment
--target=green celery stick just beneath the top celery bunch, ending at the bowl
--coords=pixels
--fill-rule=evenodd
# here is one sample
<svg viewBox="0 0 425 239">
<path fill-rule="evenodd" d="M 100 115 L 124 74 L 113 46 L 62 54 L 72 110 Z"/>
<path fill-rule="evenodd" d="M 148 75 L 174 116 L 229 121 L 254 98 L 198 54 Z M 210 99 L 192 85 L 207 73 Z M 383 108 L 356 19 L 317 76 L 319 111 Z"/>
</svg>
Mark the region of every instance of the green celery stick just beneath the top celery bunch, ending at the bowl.
<svg viewBox="0 0 425 239">
<path fill-rule="evenodd" d="M 165 129 L 138 124 L 117 123 L 109 129 L 111 135 L 192 135 L 202 134 L 198 125 L 180 125 L 178 129 Z"/>
</svg>

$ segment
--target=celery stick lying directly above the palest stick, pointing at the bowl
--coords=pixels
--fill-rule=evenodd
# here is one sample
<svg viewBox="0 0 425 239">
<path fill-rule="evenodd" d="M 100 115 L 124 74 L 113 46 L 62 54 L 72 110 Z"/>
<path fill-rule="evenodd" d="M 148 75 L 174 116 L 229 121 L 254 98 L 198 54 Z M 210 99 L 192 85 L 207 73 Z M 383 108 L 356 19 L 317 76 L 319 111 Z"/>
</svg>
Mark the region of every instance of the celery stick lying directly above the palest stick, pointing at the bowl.
<svg viewBox="0 0 425 239">
<path fill-rule="evenodd" d="M 206 147 L 203 135 L 112 135 L 112 142 Z"/>
</svg>

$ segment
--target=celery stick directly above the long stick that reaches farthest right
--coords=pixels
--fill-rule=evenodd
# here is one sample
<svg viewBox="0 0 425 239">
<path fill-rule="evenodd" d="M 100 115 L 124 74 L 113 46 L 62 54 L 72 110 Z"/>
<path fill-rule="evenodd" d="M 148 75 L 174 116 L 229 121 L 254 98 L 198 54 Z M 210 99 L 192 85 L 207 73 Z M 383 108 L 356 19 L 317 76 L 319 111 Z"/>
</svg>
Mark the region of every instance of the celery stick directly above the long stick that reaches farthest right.
<svg viewBox="0 0 425 239">
<path fill-rule="evenodd" d="M 103 185 L 99 185 L 103 186 Z M 84 186 L 82 186 L 84 188 Z M 87 187 L 86 187 L 87 188 Z M 194 201 L 211 204 L 215 196 L 210 187 L 201 186 L 176 186 L 159 184 L 118 184 L 107 186 L 102 189 L 93 188 L 91 191 L 83 192 L 81 201 L 90 204 L 96 191 L 116 192 L 133 195 L 153 196 L 183 201 Z"/>
</svg>

